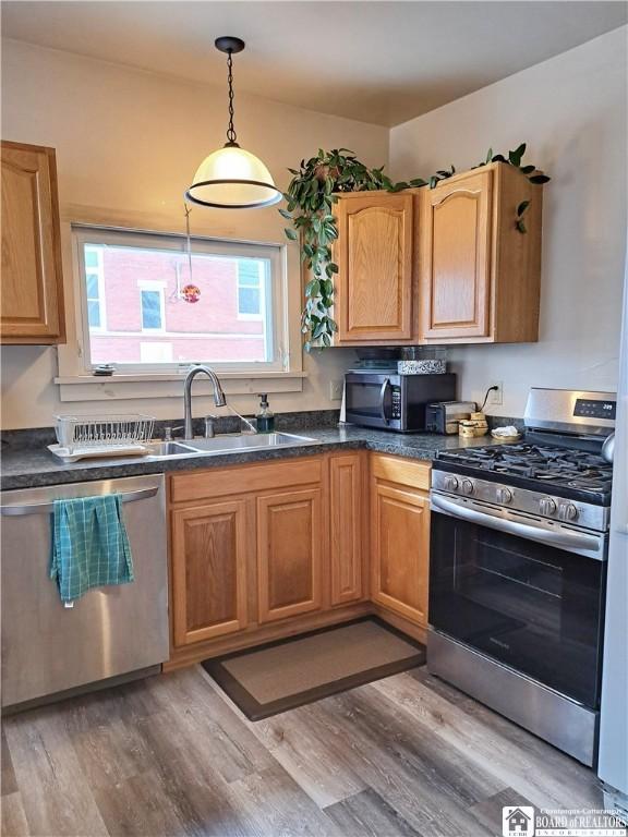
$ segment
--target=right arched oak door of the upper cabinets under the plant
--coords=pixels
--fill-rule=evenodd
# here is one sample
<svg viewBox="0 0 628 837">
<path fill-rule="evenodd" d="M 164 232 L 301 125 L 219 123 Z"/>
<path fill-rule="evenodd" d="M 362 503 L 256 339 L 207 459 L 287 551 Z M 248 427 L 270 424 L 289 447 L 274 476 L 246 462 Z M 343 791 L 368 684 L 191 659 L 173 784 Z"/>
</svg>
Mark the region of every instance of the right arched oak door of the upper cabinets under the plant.
<svg viewBox="0 0 628 837">
<path fill-rule="evenodd" d="M 485 171 L 422 194 L 422 335 L 487 338 L 492 179 Z"/>
</svg>

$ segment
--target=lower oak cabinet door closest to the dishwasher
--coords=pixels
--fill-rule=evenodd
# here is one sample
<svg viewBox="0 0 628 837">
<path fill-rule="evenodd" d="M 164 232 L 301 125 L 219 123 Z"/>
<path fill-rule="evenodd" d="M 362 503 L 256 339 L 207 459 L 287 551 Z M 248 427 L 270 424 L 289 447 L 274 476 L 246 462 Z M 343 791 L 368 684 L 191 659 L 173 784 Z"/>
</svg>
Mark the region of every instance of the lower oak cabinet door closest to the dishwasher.
<svg viewBox="0 0 628 837">
<path fill-rule="evenodd" d="M 246 627 L 246 502 L 172 512 L 174 644 Z"/>
</svg>

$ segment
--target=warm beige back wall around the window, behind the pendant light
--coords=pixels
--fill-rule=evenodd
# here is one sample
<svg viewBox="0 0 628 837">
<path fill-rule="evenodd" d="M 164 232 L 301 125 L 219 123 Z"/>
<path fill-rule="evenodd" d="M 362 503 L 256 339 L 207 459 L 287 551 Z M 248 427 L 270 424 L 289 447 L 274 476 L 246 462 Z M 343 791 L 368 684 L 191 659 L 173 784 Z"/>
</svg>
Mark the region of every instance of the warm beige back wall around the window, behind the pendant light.
<svg viewBox="0 0 628 837">
<path fill-rule="evenodd" d="M 2 138 L 57 149 L 63 265 L 73 335 L 73 278 L 70 221 L 99 217 L 111 223 L 126 219 L 146 229 L 183 229 L 183 191 L 201 160 L 225 142 L 225 74 L 195 85 L 65 52 L 3 41 Z M 237 75 L 235 75 L 237 82 Z M 216 85 L 216 86 L 215 86 Z M 271 92 L 269 92 L 271 93 Z M 235 128 L 242 145 L 257 154 L 285 189 L 302 157 L 318 147 L 352 148 L 371 166 L 387 162 L 388 130 L 314 111 L 247 97 L 237 92 Z M 283 242 L 285 222 L 276 207 L 220 213 L 195 208 L 193 232 L 215 236 Z M 295 251 L 295 245 L 292 245 Z M 299 288 L 291 258 L 289 281 Z M 297 295 L 297 294 L 295 294 Z M 302 393 L 277 393 L 277 411 L 338 407 L 329 401 L 329 380 L 342 376 L 351 350 L 305 357 L 309 373 Z M 3 347 L 2 426 L 47 426 L 56 412 L 141 410 L 158 417 L 181 412 L 177 399 L 61 404 L 57 350 Z M 240 411 L 253 411 L 254 396 L 230 399 Z M 209 410 L 198 399 L 197 414 Z"/>
</svg>

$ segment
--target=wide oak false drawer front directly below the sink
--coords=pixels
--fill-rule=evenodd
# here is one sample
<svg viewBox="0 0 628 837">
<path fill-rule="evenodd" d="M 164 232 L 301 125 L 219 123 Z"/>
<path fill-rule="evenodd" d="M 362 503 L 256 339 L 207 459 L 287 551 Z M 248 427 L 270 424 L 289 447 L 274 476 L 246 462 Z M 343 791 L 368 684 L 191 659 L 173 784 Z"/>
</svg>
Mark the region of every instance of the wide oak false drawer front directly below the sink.
<svg viewBox="0 0 628 837">
<path fill-rule="evenodd" d="M 251 494 L 267 488 L 319 483 L 323 464 L 319 457 L 288 462 L 262 462 L 225 469 L 207 469 L 174 474 L 170 477 L 170 501 L 189 502 L 233 494 Z"/>
</svg>

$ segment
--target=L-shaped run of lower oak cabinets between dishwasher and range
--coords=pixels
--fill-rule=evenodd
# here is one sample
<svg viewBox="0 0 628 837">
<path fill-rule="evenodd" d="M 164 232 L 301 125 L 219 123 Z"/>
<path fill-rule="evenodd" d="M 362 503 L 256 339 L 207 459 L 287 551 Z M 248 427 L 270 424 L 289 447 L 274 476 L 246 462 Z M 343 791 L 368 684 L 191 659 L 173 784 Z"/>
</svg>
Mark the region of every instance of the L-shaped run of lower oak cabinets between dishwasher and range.
<svg viewBox="0 0 628 837">
<path fill-rule="evenodd" d="M 374 609 L 421 631 L 428 486 L 428 464 L 365 451 L 172 475 L 169 666 Z"/>
</svg>

